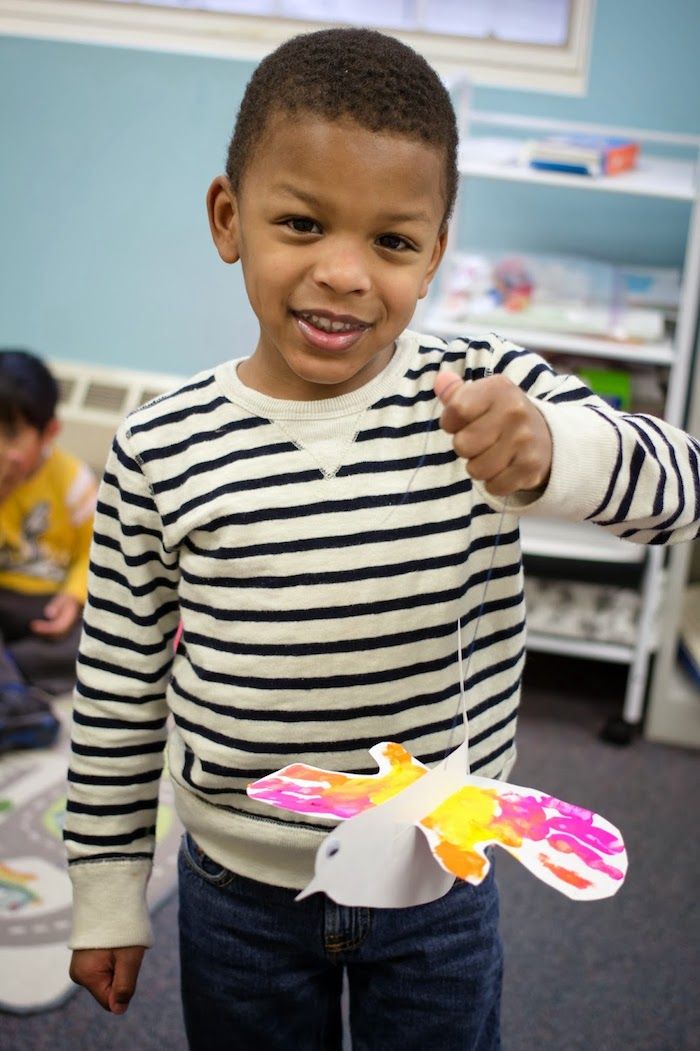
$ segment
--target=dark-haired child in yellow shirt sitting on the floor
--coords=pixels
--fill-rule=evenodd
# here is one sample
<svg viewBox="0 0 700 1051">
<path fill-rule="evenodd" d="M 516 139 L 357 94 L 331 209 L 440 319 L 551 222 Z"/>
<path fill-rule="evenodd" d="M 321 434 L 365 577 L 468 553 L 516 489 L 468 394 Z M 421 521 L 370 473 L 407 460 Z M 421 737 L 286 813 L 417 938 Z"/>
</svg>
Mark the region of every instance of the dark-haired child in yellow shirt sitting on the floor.
<svg viewBox="0 0 700 1051">
<path fill-rule="evenodd" d="M 57 400 L 40 358 L 0 351 L 0 749 L 52 744 L 45 695 L 76 678 L 97 486 L 54 447 Z"/>
</svg>

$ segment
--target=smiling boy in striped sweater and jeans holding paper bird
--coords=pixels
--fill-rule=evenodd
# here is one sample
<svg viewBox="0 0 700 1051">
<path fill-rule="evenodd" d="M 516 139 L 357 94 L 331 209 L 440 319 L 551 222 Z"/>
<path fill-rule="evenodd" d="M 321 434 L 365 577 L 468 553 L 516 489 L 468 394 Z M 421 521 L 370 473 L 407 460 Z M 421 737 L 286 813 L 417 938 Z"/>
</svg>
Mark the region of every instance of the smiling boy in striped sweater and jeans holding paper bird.
<svg viewBox="0 0 700 1051">
<path fill-rule="evenodd" d="M 457 617 L 471 766 L 506 776 L 523 661 L 515 512 L 640 542 L 698 529 L 687 436 L 616 415 L 499 339 L 407 330 L 445 250 L 455 153 L 439 79 L 391 38 L 333 29 L 265 59 L 208 193 L 260 339 L 133 414 L 107 466 L 65 827 L 71 974 L 126 1010 L 151 942 L 171 712 L 193 1049 L 338 1047 L 343 967 L 355 1051 L 499 1046 L 493 875 L 417 908 L 295 903 L 329 823 L 270 811 L 246 785 L 293 759 L 372 772 L 382 740 L 441 759 Z"/>
</svg>

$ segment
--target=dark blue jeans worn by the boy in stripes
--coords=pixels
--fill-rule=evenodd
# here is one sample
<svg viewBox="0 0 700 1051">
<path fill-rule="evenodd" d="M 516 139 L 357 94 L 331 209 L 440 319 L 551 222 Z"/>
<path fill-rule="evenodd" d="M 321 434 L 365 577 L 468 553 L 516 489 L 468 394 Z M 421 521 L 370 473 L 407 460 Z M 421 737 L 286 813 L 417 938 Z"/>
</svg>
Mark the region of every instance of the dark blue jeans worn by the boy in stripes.
<svg viewBox="0 0 700 1051">
<path fill-rule="evenodd" d="M 190 1051 L 497 1051 L 493 869 L 407 909 L 349 908 L 222 868 L 183 838 L 180 959 Z"/>
</svg>

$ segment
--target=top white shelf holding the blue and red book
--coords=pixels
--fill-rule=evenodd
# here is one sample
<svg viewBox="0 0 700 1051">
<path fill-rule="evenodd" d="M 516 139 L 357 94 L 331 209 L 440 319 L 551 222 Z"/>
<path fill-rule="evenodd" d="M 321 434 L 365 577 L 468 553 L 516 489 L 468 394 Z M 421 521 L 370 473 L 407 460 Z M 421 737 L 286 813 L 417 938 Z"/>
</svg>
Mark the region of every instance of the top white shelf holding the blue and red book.
<svg viewBox="0 0 700 1051">
<path fill-rule="evenodd" d="M 466 139 L 459 147 L 459 172 L 487 179 L 657 197 L 670 201 L 692 202 L 697 193 L 698 176 L 692 161 L 642 153 L 632 171 L 592 178 L 531 168 L 519 160 L 521 146 L 522 141 L 513 138 L 479 136 Z"/>
</svg>

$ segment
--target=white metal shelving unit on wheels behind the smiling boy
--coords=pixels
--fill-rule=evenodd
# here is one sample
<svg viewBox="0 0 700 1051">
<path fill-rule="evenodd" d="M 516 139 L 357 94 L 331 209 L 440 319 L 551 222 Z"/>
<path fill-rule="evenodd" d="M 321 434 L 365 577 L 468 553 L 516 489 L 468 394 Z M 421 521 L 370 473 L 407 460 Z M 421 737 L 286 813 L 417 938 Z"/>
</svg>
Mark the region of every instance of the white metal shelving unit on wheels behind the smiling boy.
<svg viewBox="0 0 700 1051">
<path fill-rule="evenodd" d="M 517 324 L 512 327 L 498 326 L 498 332 L 503 337 L 542 351 L 545 355 L 548 351 L 557 351 L 568 356 L 603 358 L 620 365 L 666 369 L 664 415 L 670 423 L 683 426 L 700 295 L 700 137 L 479 112 L 469 107 L 468 91 L 461 97 L 459 122 L 459 172 L 462 182 L 479 178 L 527 183 L 533 187 L 567 187 L 572 194 L 622 193 L 639 198 L 640 209 L 644 207 L 644 199 L 650 198 L 687 204 L 687 238 L 680 300 L 671 336 L 657 343 L 632 344 L 567 332 L 538 331 L 524 326 L 519 328 Z M 497 137 L 474 133 L 475 129 L 480 131 L 486 126 L 490 131 L 495 128 Z M 634 138 L 642 147 L 638 166 L 633 171 L 616 176 L 590 178 L 536 170 L 520 161 L 523 136 L 533 138 L 560 131 Z M 642 214 L 643 211 L 640 210 L 640 215 Z M 455 251 L 457 243 L 457 232 L 453 227 L 448 257 L 444 264 L 446 269 L 450 267 L 449 255 Z M 517 245 L 513 245 L 513 250 L 517 250 Z M 489 331 L 475 325 L 456 326 L 454 321 L 441 316 L 438 298 L 427 304 L 420 321 L 427 331 L 446 336 L 479 337 Z M 615 640 L 572 638 L 538 631 L 531 631 L 529 634 L 529 646 L 533 650 L 630 665 L 622 720 L 617 727 L 619 739 L 629 739 L 632 728 L 642 717 L 650 659 L 657 647 L 657 619 L 663 594 L 665 553 L 658 548 L 643 549 L 618 540 L 594 526 L 572 526 L 563 521 L 523 521 L 522 543 L 527 555 L 573 559 L 579 563 L 639 564 L 639 616 L 637 638 L 633 645 Z"/>
</svg>

